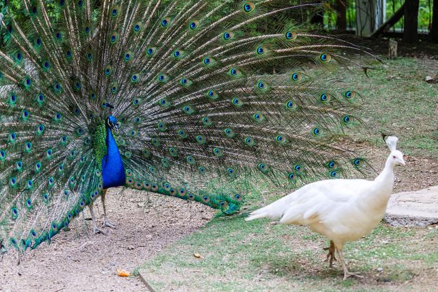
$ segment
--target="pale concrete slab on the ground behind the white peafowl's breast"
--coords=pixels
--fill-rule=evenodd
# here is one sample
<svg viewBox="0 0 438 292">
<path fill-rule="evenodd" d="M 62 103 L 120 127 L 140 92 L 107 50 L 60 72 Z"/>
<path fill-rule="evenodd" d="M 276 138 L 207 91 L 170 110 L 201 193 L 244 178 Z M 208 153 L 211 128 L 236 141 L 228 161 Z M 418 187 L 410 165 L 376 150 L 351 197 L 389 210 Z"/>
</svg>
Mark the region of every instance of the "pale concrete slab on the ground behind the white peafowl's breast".
<svg viewBox="0 0 438 292">
<path fill-rule="evenodd" d="M 438 223 L 438 185 L 392 194 L 385 222 L 393 226 L 427 226 Z"/>
</svg>

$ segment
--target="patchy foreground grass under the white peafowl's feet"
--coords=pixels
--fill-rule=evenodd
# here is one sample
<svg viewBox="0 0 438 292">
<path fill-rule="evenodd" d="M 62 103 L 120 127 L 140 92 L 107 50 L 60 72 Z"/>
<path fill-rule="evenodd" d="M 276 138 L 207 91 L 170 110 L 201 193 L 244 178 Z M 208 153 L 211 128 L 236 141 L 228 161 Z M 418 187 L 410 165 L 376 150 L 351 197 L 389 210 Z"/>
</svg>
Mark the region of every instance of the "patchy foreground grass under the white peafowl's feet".
<svg viewBox="0 0 438 292">
<path fill-rule="evenodd" d="M 437 273 L 435 228 L 379 225 L 365 239 L 346 245 L 350 269 L 360 271 L 366 280 L 342 281 L 339 267 L 329 269 L 323 263 L 326 252 L 322 247 L 327 243 L 320 235 L 302 226 L 272 225 L 268 220 L 244 222 L 244 216 L 218 215 L 140 271 L 154 289 L 162 291 L 403 289 L 424 271 Z"/>
</svg>

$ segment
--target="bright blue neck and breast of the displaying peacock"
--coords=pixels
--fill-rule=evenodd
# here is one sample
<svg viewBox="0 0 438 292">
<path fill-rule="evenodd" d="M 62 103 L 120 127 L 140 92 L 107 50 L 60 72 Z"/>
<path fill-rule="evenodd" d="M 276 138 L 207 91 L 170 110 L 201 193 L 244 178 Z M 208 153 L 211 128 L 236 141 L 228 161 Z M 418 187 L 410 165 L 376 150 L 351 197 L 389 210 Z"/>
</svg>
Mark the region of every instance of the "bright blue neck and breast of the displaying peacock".
<svg viewBox="0 0 438 292">
<path fill-rule="evenodd" d="M 122 157 L 110 127 L 106 127 L 107 154 L 102 159 L 103 188 L 125 185 L 126 176 Z"/>
</svg>

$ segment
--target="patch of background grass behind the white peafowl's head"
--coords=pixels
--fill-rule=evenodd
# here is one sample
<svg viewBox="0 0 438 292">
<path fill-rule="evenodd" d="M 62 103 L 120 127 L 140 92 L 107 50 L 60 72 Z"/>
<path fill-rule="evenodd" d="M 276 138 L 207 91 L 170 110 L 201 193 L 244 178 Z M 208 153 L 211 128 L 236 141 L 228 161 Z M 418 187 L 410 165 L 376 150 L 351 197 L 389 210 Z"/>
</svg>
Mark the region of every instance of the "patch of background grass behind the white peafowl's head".
<svg viewBox="0 0 438 292">
<path fill-rule="evenodd" d="M 357 85 L 374 134 L 395 133 L 407 155 L 438 158 L 438 85 L 424 81 L 437 74 L 438 62 L 400 58 L 374 65 L 369 78 L 341 74 L 345 83 Z M 380 137 L 373 136 L 369 142 L 381 146 Z"/>
</svg>

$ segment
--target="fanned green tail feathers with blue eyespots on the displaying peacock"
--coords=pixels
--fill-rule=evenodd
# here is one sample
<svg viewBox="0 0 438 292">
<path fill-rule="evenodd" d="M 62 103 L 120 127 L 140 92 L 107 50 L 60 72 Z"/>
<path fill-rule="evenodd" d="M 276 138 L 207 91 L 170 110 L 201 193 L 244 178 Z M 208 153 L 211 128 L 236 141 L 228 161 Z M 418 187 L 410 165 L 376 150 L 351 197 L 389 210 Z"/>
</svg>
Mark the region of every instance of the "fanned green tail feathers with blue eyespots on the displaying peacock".
<svg viewBox="0 0 438 292">
<path fill-rule="evenodd" d="M 163 2 L 24 0 L 23 25 L 3 16 L 5 243 L 50 241 L 107 187 L 105 175 L 231 214 L 248 176 L 292 188 L 360 174 L 364 159 L 341 140 L 361 124 L 359 94 L 331 75 L 350 64 L 343 51 L 361 49 L 285 18 L 248 35 L 311 4 Z M 262 73 L 276 66 L 290 70 Z M 121 157 L 124 173 L 105 157 Z"/>
</svg>

